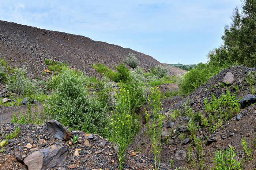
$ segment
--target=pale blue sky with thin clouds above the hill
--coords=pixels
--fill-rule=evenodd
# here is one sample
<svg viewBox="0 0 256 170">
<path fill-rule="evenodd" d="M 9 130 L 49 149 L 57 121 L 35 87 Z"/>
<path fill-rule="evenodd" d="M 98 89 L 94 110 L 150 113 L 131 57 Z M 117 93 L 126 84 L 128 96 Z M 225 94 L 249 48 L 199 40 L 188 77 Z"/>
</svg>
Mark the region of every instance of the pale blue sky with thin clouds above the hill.
<svg viewBox="0 0 256 170">
<path fill-rule="evenodd" d="M 240 0 L 0 0 L 0 20 L 63 31 L 151 55 L 207 62 Z"/>
</svg>

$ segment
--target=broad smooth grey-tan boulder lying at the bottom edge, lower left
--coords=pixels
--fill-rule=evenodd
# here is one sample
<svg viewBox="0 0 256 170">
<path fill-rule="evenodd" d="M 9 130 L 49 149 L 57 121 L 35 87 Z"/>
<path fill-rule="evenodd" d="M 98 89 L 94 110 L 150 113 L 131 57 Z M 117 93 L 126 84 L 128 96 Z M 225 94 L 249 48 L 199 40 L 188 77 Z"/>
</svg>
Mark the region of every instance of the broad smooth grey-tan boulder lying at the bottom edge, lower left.
<svg viewBox="0 0 256 170">
<path fill-rule="evenodd" d="M 27 156 L 23 162 L 29 170 L 46 170 L 62 166 L 68 156 L 67 146 L 52 145 Z"/>
</svg>

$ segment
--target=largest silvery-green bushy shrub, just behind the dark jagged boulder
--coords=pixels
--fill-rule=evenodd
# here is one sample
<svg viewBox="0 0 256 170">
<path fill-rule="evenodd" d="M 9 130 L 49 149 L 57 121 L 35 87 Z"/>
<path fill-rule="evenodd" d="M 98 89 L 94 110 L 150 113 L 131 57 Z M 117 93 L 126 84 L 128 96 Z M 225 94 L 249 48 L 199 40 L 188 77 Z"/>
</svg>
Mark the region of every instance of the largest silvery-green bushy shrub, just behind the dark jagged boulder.
<svg viewBox="0 0 256 170">
<path fill-rule="evenodd" d="M 107 108 L 97 96 L 88 96 L 82 73 L 65 70 L 59 76 L 60 81 L 47 102 L 52 118 L 64 126 L 106 137 Z"/>
</svg>

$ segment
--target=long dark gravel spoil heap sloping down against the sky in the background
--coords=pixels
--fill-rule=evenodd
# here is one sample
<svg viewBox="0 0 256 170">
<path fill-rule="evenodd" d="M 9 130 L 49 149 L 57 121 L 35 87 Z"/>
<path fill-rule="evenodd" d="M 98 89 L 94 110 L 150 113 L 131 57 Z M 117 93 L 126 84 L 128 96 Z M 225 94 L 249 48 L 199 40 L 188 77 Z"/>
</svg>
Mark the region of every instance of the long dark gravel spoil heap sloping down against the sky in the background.
<svg viewBox="0 0 256 170">
<path fill-rule="evenodd" d="M 132 49 L 80 35 L 0 21 L 0 57 L 11 66 L 24 65 L 32 77 L 41 75 L 47 68 L 45 59 L 68 63 L 71 67 L 86 71 L 88 76 L 100 76 L 91 64 L 100 62 L 114 69 L 129 53 L 135 54 L 143 69 L 161 65 L 153 57 Z M 169 68 L 169 72 L 174 75 L 182 70 Z"/>
</svg>

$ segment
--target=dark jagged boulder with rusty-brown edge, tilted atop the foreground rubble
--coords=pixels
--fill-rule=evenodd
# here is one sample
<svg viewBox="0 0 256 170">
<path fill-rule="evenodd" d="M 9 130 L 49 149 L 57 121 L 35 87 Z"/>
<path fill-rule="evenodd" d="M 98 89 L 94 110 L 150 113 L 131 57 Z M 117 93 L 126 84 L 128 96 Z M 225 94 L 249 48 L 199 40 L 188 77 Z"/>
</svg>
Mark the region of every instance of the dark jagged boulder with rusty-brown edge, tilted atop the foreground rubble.
<svg viewBox="0 0 256 170">
<path fill-rule="evenodd" d="M 48 120 L 46 121 L 46 125 L 48 128 L 49 133 L 54 133 L 54 138 L 59 139 L 59 140 L 70 140 L 73 138 L 73 135 L 63 127 L 63 125 L 57 121 L 57 120 Z"/>
</svg>

